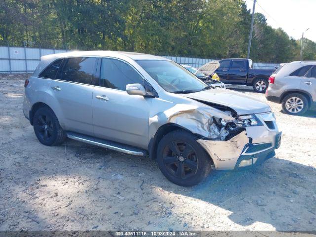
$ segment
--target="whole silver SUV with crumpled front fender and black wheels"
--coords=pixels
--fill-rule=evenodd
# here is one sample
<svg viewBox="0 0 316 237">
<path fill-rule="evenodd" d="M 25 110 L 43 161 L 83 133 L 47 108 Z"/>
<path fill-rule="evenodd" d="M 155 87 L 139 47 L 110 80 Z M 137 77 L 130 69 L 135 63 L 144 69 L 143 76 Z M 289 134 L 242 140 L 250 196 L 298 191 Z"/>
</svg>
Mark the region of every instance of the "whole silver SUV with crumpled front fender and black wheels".
<svg viewBox="0 0 316 237">
<path fill-rule="evenodd" d="M 213 86 L 152 55 L 90 51 L 43 56 L 25 81 L 23 112 L 44 145 L 66 137 L 156 159 L 191 186 L 211 169 L 258 165 L 280 145 L 260 100 Z"/>
</svg>

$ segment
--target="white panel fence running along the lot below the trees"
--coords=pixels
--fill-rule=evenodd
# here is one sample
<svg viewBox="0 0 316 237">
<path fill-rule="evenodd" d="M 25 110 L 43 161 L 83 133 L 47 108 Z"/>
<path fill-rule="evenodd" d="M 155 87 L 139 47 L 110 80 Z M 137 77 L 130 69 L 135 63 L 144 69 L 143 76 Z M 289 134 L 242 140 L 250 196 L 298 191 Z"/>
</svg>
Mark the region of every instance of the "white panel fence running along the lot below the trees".
<svg viewBox="0 0 316 237">
<path fill-rule="evenodd" d="M 66 50 L 23 48 L 23 47 L 0 47 L 0 73 L 32 73 L 40 62 L 40 57 L 47 54 L 63 53 Z M 180 64 L 193 67 L 201 67 L 213 59 L 190 58 L 176 56 L 162 56 Z M 274 69 L 279 64 L 253 63 L 255 69 Z"/>
</svg>

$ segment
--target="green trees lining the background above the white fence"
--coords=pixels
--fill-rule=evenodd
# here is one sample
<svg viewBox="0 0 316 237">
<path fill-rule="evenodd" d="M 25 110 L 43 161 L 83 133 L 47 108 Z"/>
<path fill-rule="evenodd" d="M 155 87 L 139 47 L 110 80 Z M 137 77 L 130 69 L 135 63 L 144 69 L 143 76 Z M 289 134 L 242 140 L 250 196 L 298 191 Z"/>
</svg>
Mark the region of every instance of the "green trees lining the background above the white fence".
<svg viewBox="0 0 316 237">
<path fill-rule="evenodd" d="M 0 44 L 246 57 L 251 13 L 243 0 L 1 0 Z M 303 40 L 303 59 L 316 43 Z M 250 57 L 298 60 L 300 40 L 255 14 Z"/>
</svg>

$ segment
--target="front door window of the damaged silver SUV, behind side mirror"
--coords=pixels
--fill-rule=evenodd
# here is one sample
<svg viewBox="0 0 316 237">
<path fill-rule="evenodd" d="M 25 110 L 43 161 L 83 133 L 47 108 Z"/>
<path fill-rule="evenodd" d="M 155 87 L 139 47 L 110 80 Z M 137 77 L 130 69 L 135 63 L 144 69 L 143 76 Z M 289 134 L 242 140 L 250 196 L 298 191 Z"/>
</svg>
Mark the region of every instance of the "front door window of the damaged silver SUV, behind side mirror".
<svg viewBox="0 0 316 237">
<path fill-rule="evenodd" d="M 135 83 L 144 84 L 143 78 L 130 65 L 117 59 L 102 59 L 100 86 L 126 90 L 126 85 Z"/>
</svg>

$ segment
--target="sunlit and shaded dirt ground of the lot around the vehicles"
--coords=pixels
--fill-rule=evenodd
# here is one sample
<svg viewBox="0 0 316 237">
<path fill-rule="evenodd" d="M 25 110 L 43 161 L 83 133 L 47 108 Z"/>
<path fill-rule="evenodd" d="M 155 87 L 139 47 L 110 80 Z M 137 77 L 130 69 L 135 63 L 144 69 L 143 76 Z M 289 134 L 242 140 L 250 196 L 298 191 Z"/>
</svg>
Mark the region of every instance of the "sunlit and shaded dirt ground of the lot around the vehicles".
<svg viewBox="0 0 316 237">
<path fill-rule="evenodd" d="M 275 158 L 183 188 L 149 158 L 40 144 L 22 112 L 23 83 L 0 79 L 0 231 L 316 230 L 316 112 L 290 116 L 268 102 L 283 131 Z"/>
</svg>

